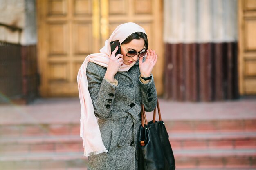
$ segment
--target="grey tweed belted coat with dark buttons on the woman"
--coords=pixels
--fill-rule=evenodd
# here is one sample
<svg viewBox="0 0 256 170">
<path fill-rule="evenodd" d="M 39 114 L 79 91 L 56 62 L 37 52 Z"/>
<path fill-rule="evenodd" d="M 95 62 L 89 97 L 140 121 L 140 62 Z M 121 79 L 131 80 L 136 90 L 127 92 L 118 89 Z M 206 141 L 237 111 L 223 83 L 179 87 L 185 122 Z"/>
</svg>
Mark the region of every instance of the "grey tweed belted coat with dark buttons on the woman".
<svg viewBox="0 0 256 170">
<path fill-rule="evenodd" d="M 89 62 L 88 89 L 104 146 L 108 152 L 88 157 L 88 170 L 137 170 L 141 102 L 146 111 L 157 104 L 154 79 L 143 84 L 139 62 L 129 71 L 117 72 L 118 86 L 103 79 L 107 68 Z"/>
</svg>

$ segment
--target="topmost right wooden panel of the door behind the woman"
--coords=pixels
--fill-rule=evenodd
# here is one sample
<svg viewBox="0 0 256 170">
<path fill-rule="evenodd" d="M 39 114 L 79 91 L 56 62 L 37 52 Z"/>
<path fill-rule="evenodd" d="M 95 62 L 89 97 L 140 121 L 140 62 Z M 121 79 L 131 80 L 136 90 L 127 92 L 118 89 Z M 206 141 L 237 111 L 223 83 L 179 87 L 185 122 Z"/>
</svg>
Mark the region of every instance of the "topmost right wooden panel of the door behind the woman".
<svg viewBox="0 0 256 170">
<path fill-rule="evenodd" d="M 134 9 L 136 14 L 152 13 L 152 0 L 135 0 Z"/>
</svg>

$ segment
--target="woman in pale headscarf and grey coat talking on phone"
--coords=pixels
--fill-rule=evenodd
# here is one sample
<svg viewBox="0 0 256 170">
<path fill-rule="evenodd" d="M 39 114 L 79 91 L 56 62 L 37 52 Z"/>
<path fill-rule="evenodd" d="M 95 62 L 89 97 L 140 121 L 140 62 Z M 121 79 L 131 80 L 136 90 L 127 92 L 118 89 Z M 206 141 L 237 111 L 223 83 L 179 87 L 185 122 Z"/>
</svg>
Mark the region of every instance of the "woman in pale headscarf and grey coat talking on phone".
<svg viewBox="0 0 256 170">
<path fill-rule="evenodd" d="M 118 47 L 110 52 L 114 40 L 121 43 L 116 57 Z M 151 75 L 157 54 L 147 50 L 145 30 L 135 23 L 121 24 L 101 53 L 88 55 L 79 69 L 80 136 L 89 156 L 88 170 L 138 169 L 141 103 L 146 111 L 157 104 Z"/>
</svg>

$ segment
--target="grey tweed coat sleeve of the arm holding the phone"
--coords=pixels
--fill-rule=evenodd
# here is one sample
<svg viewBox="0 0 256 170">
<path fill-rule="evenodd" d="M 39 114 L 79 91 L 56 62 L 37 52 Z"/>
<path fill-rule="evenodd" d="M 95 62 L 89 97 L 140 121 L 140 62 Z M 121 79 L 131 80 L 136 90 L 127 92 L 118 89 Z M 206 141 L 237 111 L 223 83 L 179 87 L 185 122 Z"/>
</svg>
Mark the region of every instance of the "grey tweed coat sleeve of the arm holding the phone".
<svg viewBox="0 0 256 170">
<path fill-rule="evenodd" d="M 100 119 L 106 119 L 113 108 L 113 101 L 118 85 L 115 86 L 104 79 L 97 64 L 92 62 L 88 62 L 86 76 L 95 115 Z"/>
</svg>

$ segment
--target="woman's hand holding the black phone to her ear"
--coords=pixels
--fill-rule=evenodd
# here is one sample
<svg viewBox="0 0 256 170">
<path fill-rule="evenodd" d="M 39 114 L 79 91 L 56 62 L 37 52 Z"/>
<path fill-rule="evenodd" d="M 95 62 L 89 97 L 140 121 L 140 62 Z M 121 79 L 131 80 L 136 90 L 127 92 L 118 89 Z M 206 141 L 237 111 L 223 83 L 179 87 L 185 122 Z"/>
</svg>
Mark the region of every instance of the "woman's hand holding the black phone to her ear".
<svg viewBox="0 0 256 170">
<path fill-rule="evenodd" d="M 123 55 L 117 54 L 117 56 L 115 56 L 117 50 L 118 47 L 116 47 L 115 50 L 112 52 L 108 63 L 108 68 L 105 73 L 105 78 L 110 80 L 111 82 L 114 82 L 114 76 L 116 75 L 121 65 L 124 64 Z"/>
</svg>

